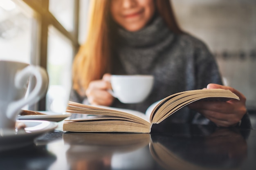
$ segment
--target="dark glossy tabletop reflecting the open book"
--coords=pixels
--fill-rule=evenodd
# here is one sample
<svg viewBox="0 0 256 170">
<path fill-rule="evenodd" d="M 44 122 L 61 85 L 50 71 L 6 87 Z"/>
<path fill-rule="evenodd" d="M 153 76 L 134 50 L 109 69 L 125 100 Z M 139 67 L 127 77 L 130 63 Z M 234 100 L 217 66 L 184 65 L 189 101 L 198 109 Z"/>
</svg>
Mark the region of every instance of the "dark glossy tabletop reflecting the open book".
<svg viewBox="0 0 256 170">
<path fill-rule="evenodd" d="M 150 134 L 53 132 L 0 153 L 0 170 L 256 170 L 256 130 L 172 124 Z"/>
</svg>

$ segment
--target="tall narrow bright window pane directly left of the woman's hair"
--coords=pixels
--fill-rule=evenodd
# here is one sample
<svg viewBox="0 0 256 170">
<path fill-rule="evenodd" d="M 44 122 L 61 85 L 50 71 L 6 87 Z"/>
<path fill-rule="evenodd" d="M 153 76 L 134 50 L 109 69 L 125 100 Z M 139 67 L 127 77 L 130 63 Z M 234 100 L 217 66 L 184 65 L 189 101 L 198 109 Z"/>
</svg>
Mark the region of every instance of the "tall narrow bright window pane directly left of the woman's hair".
<svg viewBox="0 0 256 170">
<path fill-rule="evenodd" d="M 72 42 L 53 26 L 49 27 L 48 35 L 47 71 L 51 74 L 46 108 L 61 113 L 71 89 Z"/>
</svg>

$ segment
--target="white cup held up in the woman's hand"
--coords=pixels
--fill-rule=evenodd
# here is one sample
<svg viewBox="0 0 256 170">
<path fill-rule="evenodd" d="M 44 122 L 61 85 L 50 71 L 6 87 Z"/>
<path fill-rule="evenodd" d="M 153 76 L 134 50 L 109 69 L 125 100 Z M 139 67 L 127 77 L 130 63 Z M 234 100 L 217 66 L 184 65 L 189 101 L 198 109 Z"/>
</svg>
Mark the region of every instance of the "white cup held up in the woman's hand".
<svg viewBox="0 0 256 170">
<path fill-rule="evenodd" d="M 110 93 L 122 103 L 143 102 L 150 94 L 153 75 L 111 75 Z"/>
</svg>

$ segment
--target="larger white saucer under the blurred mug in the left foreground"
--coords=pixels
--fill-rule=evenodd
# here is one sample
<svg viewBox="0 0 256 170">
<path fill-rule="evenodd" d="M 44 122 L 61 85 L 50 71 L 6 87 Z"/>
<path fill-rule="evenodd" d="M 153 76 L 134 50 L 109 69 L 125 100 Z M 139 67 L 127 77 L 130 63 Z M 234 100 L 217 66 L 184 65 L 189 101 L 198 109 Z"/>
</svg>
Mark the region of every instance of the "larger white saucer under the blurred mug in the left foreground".
<svg viewBox="0 0 256 170">
<path fill-rule="evenodd" d="M 25 130 L 0 129 L 0 152 L 34 143 L 34 139 L 57 127 L 56 122 L 43 120 L 18 120 L 26 125 Z"/>
</svg>

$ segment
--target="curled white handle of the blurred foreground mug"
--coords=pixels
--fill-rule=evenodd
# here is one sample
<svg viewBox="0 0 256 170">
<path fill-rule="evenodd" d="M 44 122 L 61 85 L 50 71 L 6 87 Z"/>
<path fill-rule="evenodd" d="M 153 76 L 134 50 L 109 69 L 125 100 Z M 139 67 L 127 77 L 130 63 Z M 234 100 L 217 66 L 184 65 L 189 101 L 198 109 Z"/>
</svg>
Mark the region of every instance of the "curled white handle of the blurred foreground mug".
<svg viewBox="0 0 256 170">
<path fill-rule="evenodd" d="M 23 88 L 27 85 L 27 80 L 31 75 L 36 77 L 36 86 L 29 93 L 27 98 L 19 99 L 15 102 L 11 102 L 7 107 L 7 117 L 16 121 L 16 116 L 19 110 L 27 104 L 34 104 L 39 101 L 43 95 L 45 95 L 48 84 L 49 77 L 44 68 L 40 66 L 29 65 L 22 69 L 20 72 L 16 73 L 14 84 L 16 88 Z"/>
</svg>

